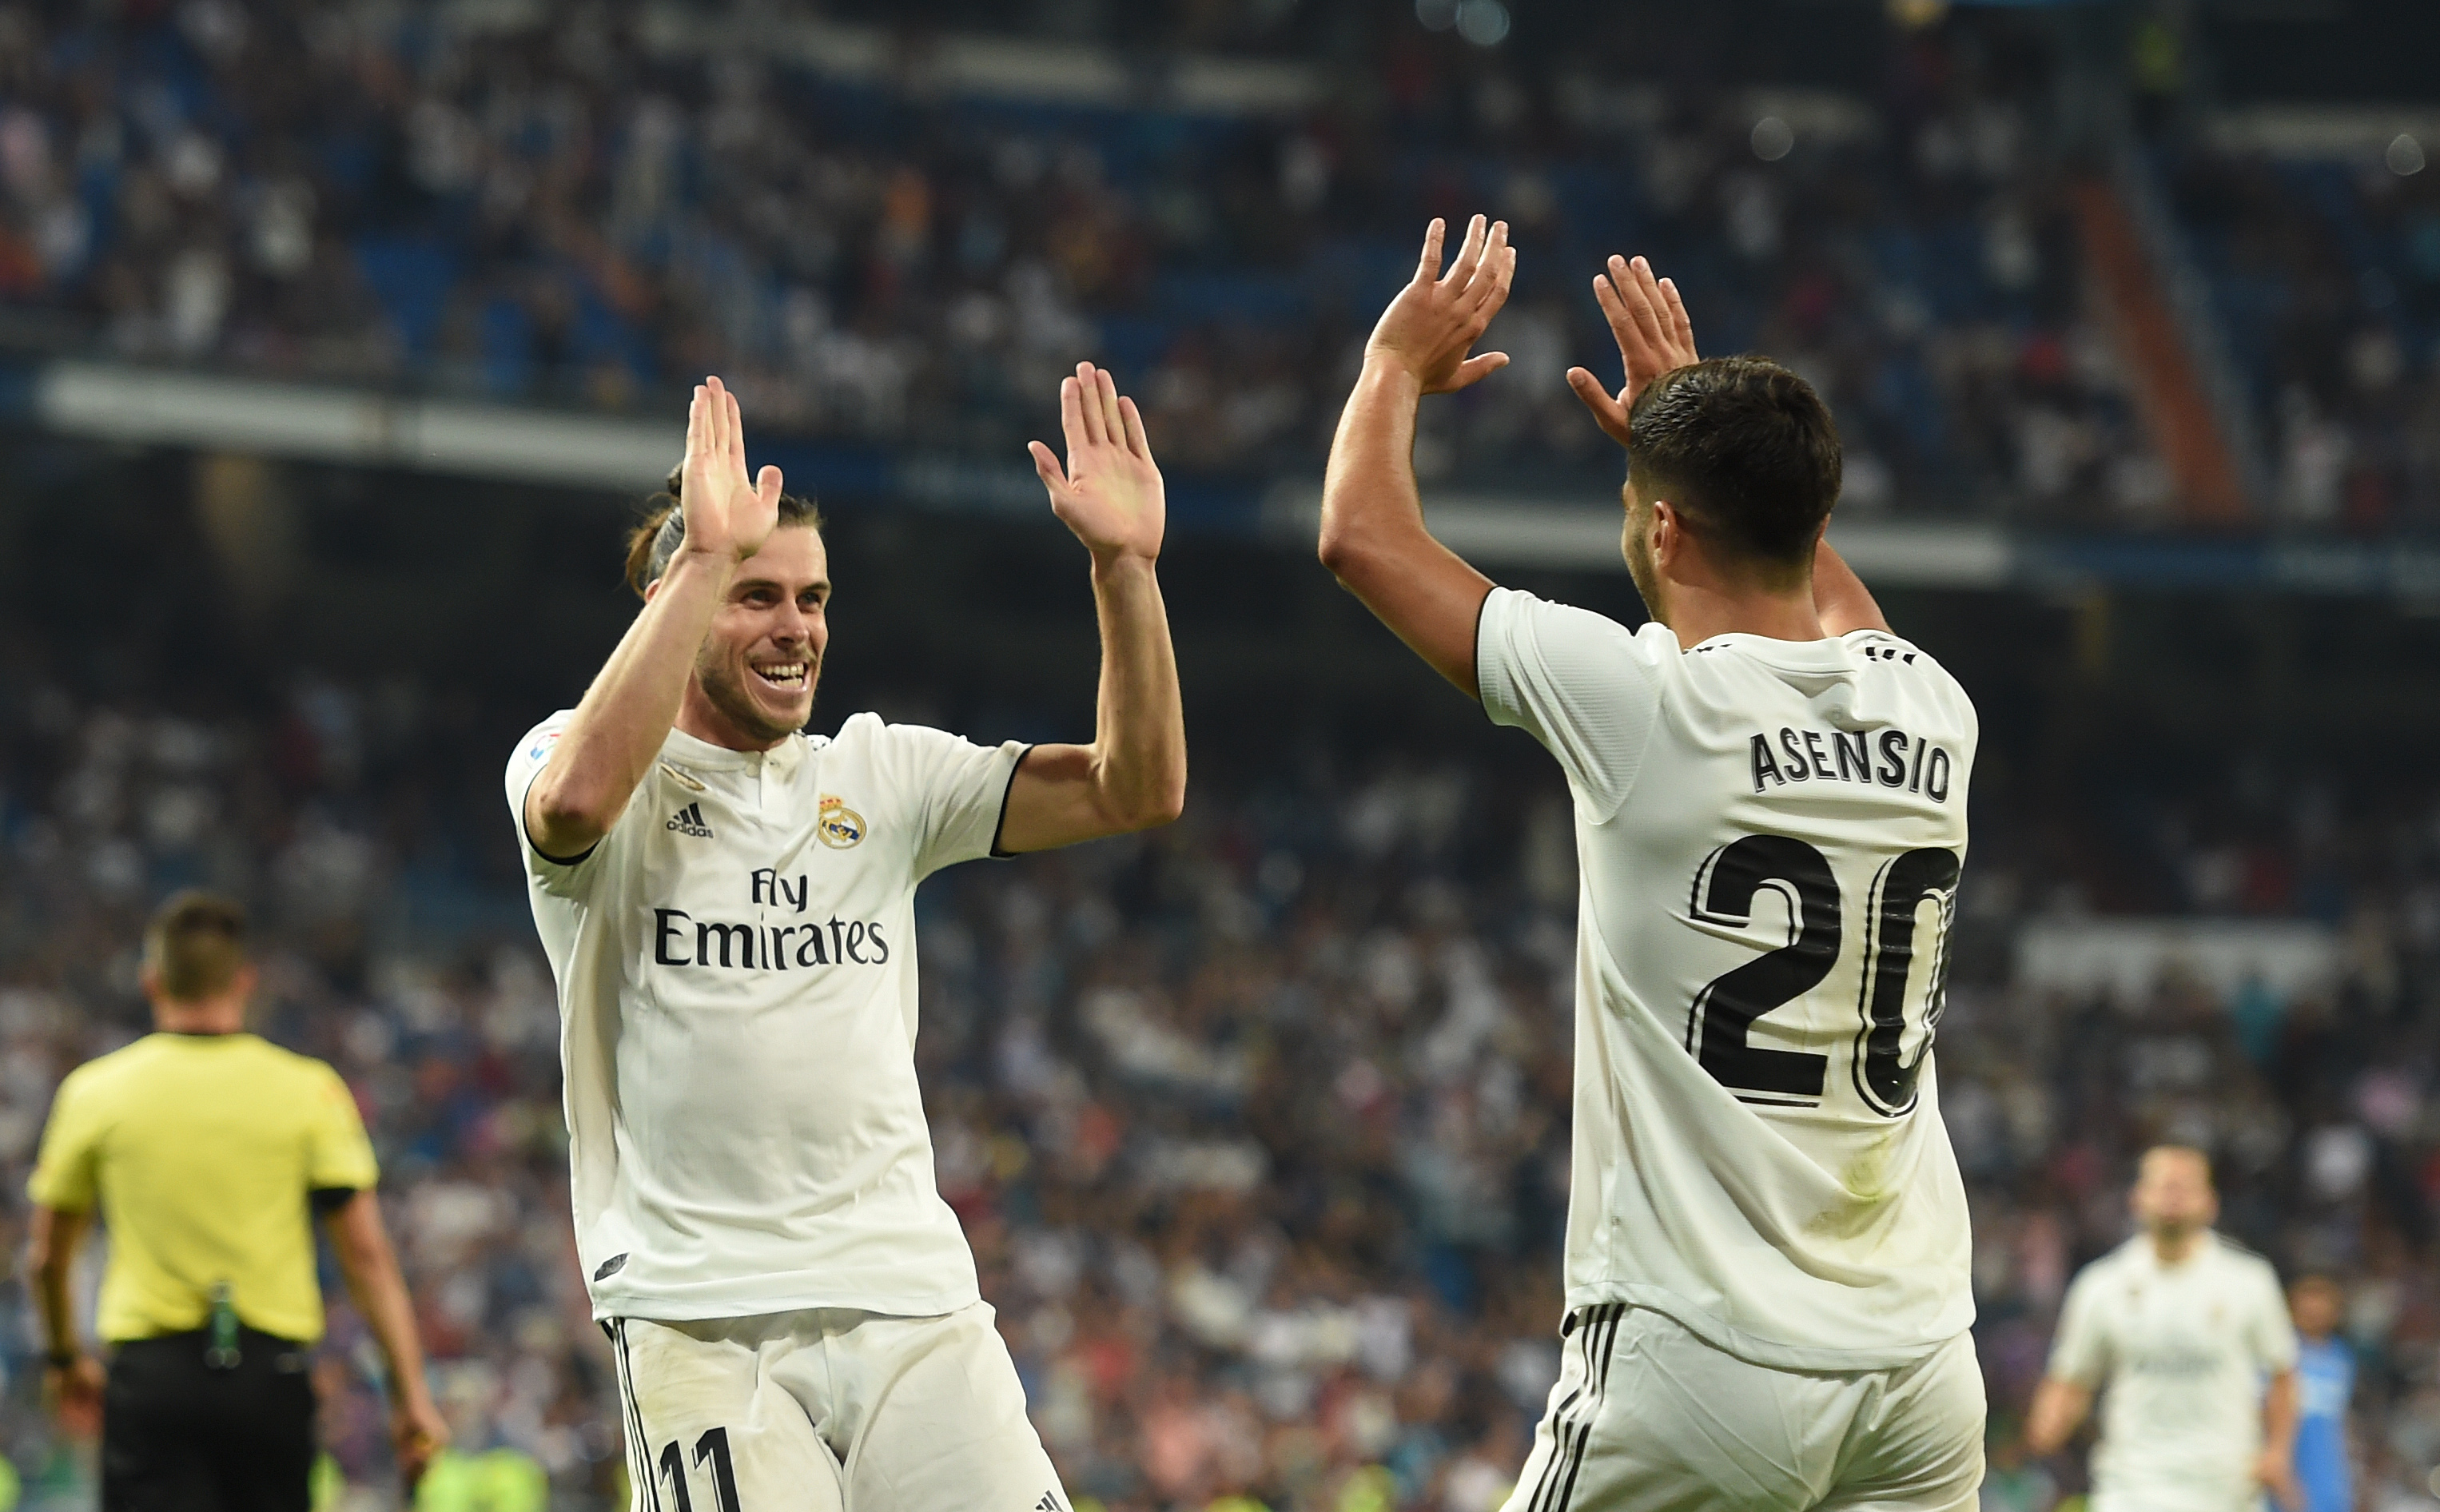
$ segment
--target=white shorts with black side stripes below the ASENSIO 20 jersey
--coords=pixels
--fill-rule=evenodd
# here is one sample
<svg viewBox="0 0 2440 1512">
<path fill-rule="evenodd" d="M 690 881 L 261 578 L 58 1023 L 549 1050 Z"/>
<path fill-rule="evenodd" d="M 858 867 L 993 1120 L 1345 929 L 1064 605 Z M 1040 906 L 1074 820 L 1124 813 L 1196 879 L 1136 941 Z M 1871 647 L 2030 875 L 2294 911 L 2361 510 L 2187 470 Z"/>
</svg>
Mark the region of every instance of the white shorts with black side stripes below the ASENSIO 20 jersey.
<svg viewBox="0 0 2440 1512">
<path fill-rule="evenodd" d="M 1503 1512 L 1972 1512 L 1974 1336 L 1886 1371 L 1781 1371 L 1603 1302 L 1562 1329 L 1559 1385 Z"/>
</svg>

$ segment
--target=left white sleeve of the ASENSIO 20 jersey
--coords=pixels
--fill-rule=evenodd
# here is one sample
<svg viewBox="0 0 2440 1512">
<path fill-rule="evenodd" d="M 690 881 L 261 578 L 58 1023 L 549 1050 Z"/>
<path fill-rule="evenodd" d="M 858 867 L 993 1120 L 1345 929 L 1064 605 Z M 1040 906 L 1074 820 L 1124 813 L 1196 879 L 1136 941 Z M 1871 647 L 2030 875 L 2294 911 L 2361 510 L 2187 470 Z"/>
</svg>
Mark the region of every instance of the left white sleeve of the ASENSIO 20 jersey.
<svg viewBox="0 0 2440 1512">
<path fill-rule="evenodd" d="M 1474 678 L 1493 724 L 1515 724 L 1566 771 L 1593 822 L 1627 800 L 1659 715 L 1659 676 L 1625 624 L 1493 588 L 1474 629 Z"/>
</svg>

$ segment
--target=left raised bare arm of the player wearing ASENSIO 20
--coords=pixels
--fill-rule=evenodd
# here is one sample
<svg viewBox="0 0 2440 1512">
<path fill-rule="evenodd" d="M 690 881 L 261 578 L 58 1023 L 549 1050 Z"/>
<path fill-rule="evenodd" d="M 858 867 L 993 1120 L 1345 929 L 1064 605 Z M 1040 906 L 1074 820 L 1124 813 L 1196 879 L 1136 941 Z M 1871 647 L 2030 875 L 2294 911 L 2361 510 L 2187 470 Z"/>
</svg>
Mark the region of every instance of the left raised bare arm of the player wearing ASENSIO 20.
<svg viewBox="0 0 2440 1512">
<path fill-rule="evenodd" d="M 1322 566 L 1364 600 L 1381 624 L 1481 697 L 1474 678 L 1474 627 L 1491 578 L 1432 539 L 1415 490 L 1415 405 L 1454 393 L 1508 366 L 1505 351 L 1466 356 L 1508 302 L 1518 254 L 1508 222 L 1466 227 L 1449 271 L 1440 271 L 1447 224 L 1423 234 L 1415 278 L 1381 312 L 1364 344 L 1364 373 L 1347 395 L 1322 478 Z"/>
</svg>

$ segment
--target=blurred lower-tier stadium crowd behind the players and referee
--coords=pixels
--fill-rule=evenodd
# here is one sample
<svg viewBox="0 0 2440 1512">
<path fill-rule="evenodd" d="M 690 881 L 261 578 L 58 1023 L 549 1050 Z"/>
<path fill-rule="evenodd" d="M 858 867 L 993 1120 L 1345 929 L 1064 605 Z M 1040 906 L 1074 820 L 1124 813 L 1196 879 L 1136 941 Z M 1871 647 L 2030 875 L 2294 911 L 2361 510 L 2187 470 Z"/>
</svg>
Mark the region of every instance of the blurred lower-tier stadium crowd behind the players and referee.
<svg viewBox="0 0 2440 1512">
<path fill-rule="evenodd" d="M 278 939 L 264 1032 L 364 1105 L 459 1446 L 529 1495 L 547 1475 L 554 1505 L 612 1505 L 551 985 L 498 885 L 515 861 L 490 744 L 527 712 L 329 680 L 251 719 L 0 693 L 24 712 L 0 724 L 0 1244 L 22 1236 L 51 1085 L 142 1024 L 144 907 L 234 888 Z M 1315 751 L 1259 780 L 1205 763 L 1169 832 L 927 885 L 939 1185 L 1081 1505 L 1505 1495 L 1557 1371 L 1569 1097 L 1569 822 L 1527 771 L 1520 736 L 1423 766 Z M 2015 1414 L 2067 1278 L 2123 1236 L 2130 1158 L 2159 1136 L 2218 1154 L 2233 1234 L 2347 1283 L 2359 1446 L 2391 1497 L 2374 1505 L 2428 1505 L 2408 1492 L 2440 1463 L 2430 790 L 2374 807 L 2235 768 L 2052 807 L 1984 802 L 1940 1034 L 1976 1212 L 1986 1505 L 2045 1512 L 2074 1488 L 2025 1463 Z M 2015 932 L 2096 910 L 2318 922 L 2342 966 L 2286 995 L 2030 988 Z M 346 1495 L 378 1507 L 368 1358 L 337 1305 L 325 1439 Z M 0 1366 L 27 1505 L 78 1505 L 90 1466 L 37 1407 L 17 1317 Z"/>
</svg>

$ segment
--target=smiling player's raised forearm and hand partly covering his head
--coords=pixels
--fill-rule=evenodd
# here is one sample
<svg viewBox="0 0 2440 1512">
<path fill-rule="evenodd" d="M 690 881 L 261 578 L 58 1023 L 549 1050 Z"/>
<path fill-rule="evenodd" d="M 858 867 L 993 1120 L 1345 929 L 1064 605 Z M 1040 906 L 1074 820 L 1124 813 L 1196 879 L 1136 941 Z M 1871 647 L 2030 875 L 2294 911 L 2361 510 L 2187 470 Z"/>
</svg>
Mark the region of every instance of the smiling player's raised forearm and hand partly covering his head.
<svg viewBox="0 0 2440 1512">
<path fill-rule="evenodd" d="M 576 861 L 627 810 L 678 719 L 686 676 L 730 576 L 778 524 L 778 468 L 747 478 L 737 395 L 720 378 L 705 378 L 686 412 L 686 478 L 678 490 L 686 544 L 586 688 L 549 766 L 525 790 L 525 834 L 544 856 Z"/>
</svg>

